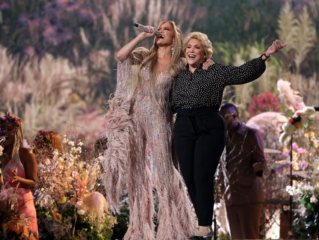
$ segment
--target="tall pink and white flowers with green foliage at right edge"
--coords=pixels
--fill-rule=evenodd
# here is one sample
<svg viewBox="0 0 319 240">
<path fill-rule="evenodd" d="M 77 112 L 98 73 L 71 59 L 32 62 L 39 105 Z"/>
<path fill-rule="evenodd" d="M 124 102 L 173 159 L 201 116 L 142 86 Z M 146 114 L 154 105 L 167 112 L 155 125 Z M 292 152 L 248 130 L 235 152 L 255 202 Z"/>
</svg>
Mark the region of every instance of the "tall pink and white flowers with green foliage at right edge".
<svg viewBox="0 0 319 240">
<path fill-rule="evenodd" d="M 292 170 L 298 176 L 286 191 L 293 196 L 294 221 L 292 231 L 296 239 L 315 239 L 319 229 L 319 139 L 318 122 L 309 132 L 299 131 L 292 142 Z"/>
</svg>

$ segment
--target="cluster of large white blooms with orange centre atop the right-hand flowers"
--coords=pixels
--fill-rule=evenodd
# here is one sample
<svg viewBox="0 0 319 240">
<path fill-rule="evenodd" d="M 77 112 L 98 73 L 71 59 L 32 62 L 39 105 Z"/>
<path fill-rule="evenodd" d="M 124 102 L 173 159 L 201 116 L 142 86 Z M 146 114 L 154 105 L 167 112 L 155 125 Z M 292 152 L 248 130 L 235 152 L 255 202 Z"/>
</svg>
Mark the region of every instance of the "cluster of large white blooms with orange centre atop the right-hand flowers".
<svg viewBox="0 0 319 240">
<path fill-rule="evenodd" d="M 279 137 L 280 142 L 288 143 L 295 130 L 301 130 L 302 128 L 308 127 L 314 113 L 315 108 L 311 106 L 306 106 L 302 110 L 295 111 L 282 126 L 283 132 Z"/>
</svg>

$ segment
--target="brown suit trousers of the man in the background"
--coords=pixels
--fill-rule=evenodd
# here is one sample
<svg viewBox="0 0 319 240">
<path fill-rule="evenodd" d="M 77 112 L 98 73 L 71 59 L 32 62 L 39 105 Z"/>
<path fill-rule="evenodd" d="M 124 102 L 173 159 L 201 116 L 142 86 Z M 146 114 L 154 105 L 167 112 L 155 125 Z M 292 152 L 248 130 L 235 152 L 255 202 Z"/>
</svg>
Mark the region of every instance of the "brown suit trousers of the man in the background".
<svg viewBox="0 0 319 240">
<path fill-rule="evenodd" d="M 227 217 L 234 239 L 260 239 L 261 203 L 226 206 Z"/>
</svg>

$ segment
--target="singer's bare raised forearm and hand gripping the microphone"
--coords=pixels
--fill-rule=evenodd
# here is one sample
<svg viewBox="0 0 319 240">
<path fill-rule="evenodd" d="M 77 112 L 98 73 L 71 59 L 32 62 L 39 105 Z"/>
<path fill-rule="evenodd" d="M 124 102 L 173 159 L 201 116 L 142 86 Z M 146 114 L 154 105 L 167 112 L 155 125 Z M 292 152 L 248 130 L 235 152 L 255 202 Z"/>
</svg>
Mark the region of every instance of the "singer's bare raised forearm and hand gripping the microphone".
<svg viewBox="0 0 319 240">
<path fill-rule="evenodd" d="M 149 27 L 149 26 L 147 26 Z M 142 32 L 132 41 L 126 43 L 116 54 L 119 61 L 123 62 L 130 56 L 131 52 L 140 44 L 145 38 L 154 36 L 155 28 L 149 27 L 151 33 Z"/>
</svg>

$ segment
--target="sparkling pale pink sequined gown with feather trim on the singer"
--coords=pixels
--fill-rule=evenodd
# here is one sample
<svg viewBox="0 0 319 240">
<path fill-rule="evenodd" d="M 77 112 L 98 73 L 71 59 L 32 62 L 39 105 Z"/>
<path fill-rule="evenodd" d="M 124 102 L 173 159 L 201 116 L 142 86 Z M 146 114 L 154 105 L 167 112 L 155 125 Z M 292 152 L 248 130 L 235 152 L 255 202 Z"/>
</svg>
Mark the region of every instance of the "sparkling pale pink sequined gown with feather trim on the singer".
<svg viewBox="0 0 319 240">
<path fill-rule="evenodd" d="M 122 188 L 127 183 L 130 220 L 124 240 L 185 240 L 195 233 L 195 220 L 185 184 L 172 160 L 172 110 L 169 96 L 174 77 L 162 72 L 155 84 L 159 106 L 149 92 L 149 66 L 141 69 L 134 96 L 128 99 L 129 78 L 146 52 L 135 52 L 118 62 L 116 95 L 106 114 L 109 149 L 103 161 L 102 179 L 111 209 L 118 211 Z M 145 147 L 154 159 L 147 167 Z M 158 229 L 155 238 L 153 189 L 158 196 Z"/>
</svg>

